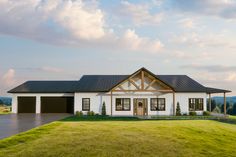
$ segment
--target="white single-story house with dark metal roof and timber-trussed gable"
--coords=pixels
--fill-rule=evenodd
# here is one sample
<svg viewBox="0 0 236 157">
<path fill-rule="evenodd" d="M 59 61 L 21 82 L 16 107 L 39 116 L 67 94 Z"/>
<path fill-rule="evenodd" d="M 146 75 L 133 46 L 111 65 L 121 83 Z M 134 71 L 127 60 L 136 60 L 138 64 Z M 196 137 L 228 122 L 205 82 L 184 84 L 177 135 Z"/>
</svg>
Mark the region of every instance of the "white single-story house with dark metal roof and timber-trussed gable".
<svg viewBox="0 0 236 157">
<path fill-rule="evenodd" d="M 141 68 L 131 75 L 84 75 L 79 81 L 27 81 L 12 89 L 13 113 L 175 115 L 206 111 L 207 95 L 228 90 L 208 88 L 186 75 L 155 75 Z"/>
</svg>

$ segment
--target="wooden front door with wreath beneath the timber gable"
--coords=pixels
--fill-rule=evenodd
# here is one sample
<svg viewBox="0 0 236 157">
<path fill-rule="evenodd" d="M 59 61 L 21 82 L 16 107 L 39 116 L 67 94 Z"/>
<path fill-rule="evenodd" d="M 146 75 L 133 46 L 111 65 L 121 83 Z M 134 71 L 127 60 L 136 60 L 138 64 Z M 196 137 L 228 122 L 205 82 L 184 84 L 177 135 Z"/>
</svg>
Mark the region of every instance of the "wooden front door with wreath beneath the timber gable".
<svg viewBox="0 0 236 157">
<path fill-rule="evenodd" d="M 147 99 L 134 99 L 134 115 L 147 115 Z"/>
</svg>

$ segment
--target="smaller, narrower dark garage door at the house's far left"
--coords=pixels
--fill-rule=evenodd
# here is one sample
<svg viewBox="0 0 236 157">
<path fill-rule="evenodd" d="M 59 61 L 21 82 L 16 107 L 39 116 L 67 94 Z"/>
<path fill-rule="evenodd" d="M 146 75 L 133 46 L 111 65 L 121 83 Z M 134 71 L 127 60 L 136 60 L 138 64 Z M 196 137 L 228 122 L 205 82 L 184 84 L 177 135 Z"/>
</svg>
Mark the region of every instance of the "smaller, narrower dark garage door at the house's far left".
<svg viewBox="0 0 236 157">
<path fill-rule="evenodd" d="M 35 113 L 36 97 L 17 97 L 18 113 Z"/>
</svg>

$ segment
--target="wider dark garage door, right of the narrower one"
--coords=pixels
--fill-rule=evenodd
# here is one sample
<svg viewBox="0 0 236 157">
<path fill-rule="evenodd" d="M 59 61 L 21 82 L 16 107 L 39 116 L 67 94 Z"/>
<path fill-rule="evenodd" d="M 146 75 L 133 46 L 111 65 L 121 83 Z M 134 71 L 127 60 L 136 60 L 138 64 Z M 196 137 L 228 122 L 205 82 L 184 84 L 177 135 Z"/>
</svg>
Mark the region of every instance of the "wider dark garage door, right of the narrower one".
<svg viewBox="0 0 236 157">
<path fill-rule="evenodd" d="M 41 97 L 41 113 L 74 113 L 74 97 Z"/>
</svg>

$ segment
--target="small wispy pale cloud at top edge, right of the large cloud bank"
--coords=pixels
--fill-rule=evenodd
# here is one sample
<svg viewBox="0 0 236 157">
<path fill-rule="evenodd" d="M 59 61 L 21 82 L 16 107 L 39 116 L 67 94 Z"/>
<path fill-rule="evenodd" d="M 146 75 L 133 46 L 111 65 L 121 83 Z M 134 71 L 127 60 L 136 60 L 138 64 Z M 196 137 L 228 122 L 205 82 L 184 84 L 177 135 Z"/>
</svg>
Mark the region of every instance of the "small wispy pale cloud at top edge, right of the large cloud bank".
<svg viewBox="0 0 236 157">
<path fill-rule="evenodd" d="M 159 24 L 164 14 L 151 13 L 148 4 L 132 4 L 128 1 L 122 1 L 121 14 L 125 18 L 129 17 L 135 25 L 156 25 Z"/>
</svg>

